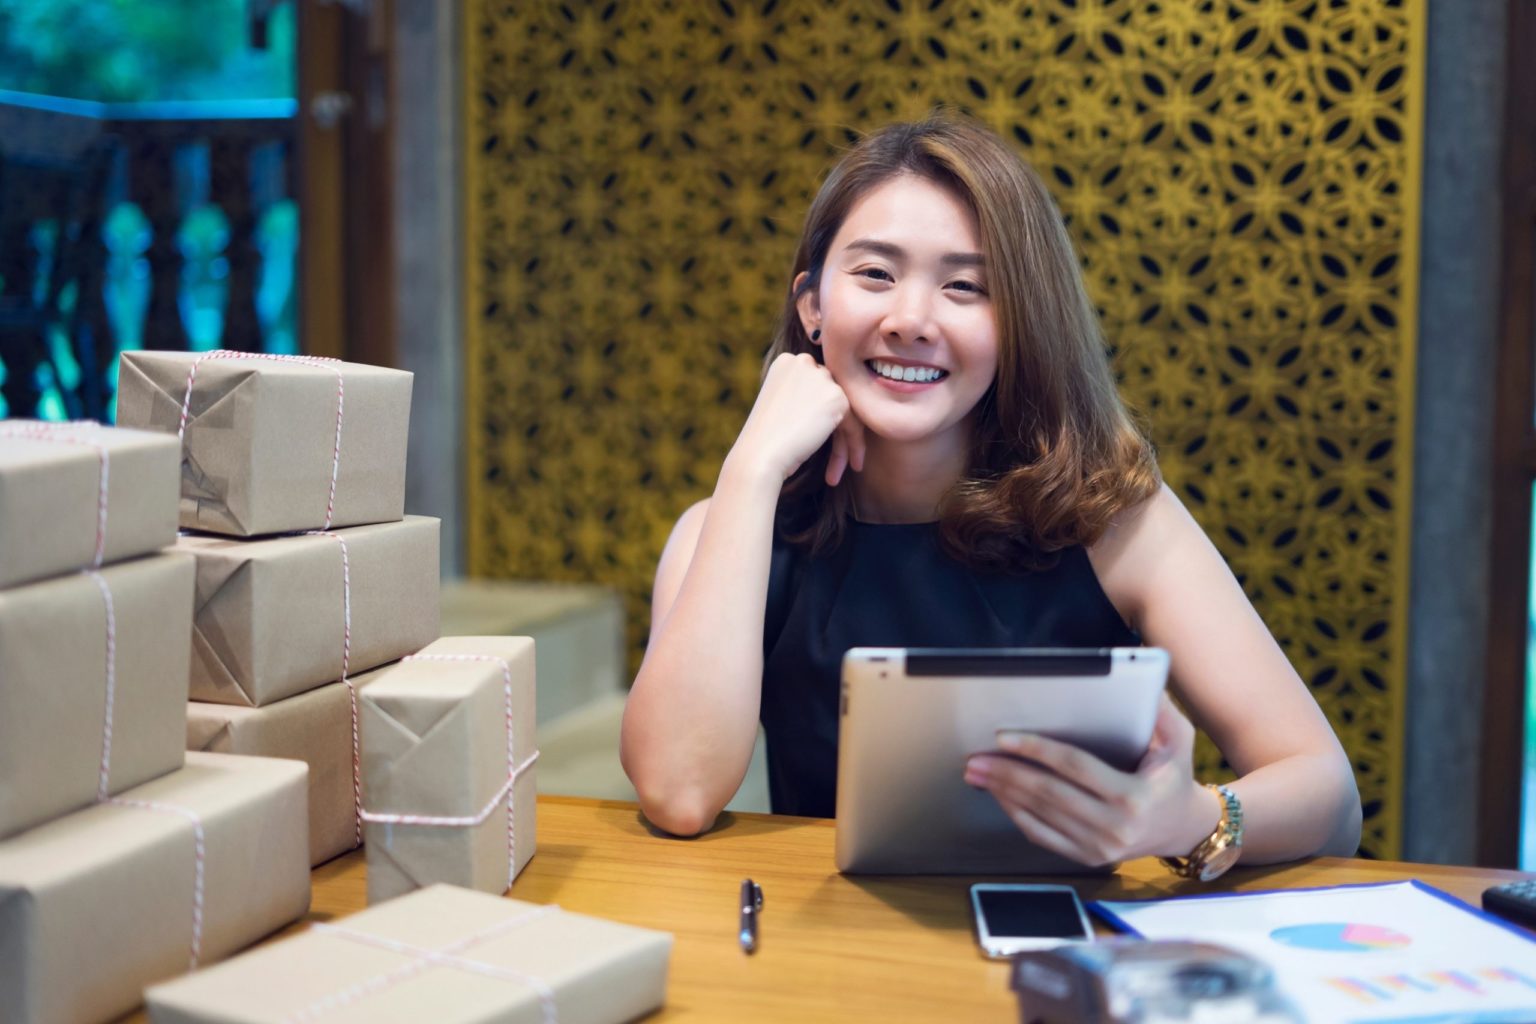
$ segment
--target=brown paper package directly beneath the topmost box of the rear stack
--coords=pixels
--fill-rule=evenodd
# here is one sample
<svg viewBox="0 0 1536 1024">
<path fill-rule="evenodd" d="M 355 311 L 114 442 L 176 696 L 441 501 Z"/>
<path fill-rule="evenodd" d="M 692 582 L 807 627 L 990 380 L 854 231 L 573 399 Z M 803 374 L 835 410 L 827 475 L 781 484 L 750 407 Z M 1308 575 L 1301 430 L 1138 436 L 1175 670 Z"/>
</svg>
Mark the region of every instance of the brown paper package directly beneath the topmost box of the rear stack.
<svg viewBox="0 0 1536 1024">
<path fill-rule="evenodd" d="M 197 557 L 192 700 L 260 708 L 412 654 L 438 639 L 436 519 L 232 540 L 183 536 Z M 346 542 L 346 571 L 341 542 Z"/>
</svg>

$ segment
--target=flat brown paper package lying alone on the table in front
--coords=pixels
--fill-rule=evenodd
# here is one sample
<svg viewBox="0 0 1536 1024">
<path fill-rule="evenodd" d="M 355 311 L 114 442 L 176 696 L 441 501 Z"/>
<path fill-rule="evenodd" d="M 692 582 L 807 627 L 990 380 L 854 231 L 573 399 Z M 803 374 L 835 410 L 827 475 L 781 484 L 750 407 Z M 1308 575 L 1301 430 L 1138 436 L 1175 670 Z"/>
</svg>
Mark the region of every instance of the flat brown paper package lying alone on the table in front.
<svg viewBox="0 0 1536 1024">
<path fill-rule="evenodd" d="M 619 1024 L 667 1001 L 667 932 L 453 886 L 432 886 L 336 924 L 344 932 L 312 929 L 151 989 L 149 1019 L 278 1024 L 307 1012 L 304 1019 L 316 1024 Z M 472 966 L 427 966 L 369 944 L 369 936 L 396 947 L 450 949 Z M 553 1016 L 544 1013 L 541 986 L 553 995 Z"/>
</svg>

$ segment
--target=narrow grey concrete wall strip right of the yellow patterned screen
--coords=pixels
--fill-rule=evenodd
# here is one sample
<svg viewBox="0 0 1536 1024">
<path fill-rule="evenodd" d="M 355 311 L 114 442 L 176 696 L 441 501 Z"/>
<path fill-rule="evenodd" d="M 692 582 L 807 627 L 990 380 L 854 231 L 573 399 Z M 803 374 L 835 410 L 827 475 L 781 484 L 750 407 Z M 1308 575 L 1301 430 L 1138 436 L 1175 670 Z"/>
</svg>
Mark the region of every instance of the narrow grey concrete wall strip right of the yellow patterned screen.
<svg viewBox="0 0 1536 1024">
<path fill-rule="evenodd" d="M 1505 3 L 1428 6 L 1402 847 L 1416 861 L 1476 858 Z"/>
</svg>

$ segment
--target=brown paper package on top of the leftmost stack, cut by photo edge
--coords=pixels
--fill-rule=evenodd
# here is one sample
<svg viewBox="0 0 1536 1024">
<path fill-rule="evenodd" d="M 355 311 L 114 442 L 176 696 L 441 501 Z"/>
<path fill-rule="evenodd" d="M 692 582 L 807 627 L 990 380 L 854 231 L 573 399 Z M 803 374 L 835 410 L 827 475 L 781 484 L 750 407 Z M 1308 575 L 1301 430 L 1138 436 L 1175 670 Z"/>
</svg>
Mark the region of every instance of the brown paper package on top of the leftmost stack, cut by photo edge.
<svg viewBox="0 0 1536 1024">
<path fill-rule="evenodd" d="M 95 424 L 49 424 L 58 438 L 6 438 L 0 422 L 0 586 L 91 565 L 106 453 L 106 531 L 101 562 L 121 562 L 177 539 L 175 438 Z"/>
</svg>

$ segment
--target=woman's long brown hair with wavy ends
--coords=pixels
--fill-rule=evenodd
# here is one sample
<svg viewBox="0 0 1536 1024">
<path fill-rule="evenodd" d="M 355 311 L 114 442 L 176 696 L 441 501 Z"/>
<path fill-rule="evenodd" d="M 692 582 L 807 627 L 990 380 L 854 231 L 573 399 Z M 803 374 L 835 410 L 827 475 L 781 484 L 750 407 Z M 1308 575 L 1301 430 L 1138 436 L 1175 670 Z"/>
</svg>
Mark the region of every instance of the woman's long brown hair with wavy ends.
<svg viewBox="0 0 1536 1024">
<path fill-rule="evenodd" d="M 1049 565 L 1092 543 L 1161 484 L 1157 459 L 1109 368 L 1077 256 L 1040 177 L 991 130 L 952 114 L 892 124 L 854 146 L 822 184 L 794 255 L 763 373 L 782 352 L 814 352 L 796 301 L 820 286 L 833 238 L 871 189 L 914 173 L 952 190 L 980 226 L 997 316 L 997 379 L 972 416 L 969 465 L 940 504 L 940 539 L 965 563 Z M 786 539 L 820 553 L 843 537 L 849 479 L 828 488 L 831 442 L 780 493 Z"/>
</svg>

